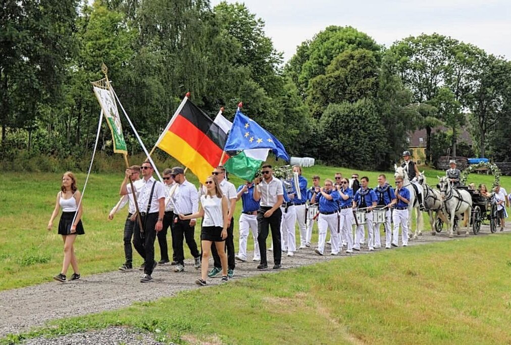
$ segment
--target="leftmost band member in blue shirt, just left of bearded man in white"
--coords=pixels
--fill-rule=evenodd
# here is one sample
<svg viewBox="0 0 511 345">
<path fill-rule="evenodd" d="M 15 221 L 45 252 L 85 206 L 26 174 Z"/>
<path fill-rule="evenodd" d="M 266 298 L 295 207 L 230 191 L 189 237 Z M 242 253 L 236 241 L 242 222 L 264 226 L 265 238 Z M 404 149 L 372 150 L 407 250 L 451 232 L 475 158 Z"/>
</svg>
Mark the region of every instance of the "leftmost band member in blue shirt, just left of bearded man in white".
<svg viewBox="0 0 511 345">
<path fill-rule="evenodd" d="M 252 261 L 260 261 L 259 243 L 257 242 L 257 210 L 259 210 L 259 201 L 254 200 L 254 184 L 246 181 L 244 185 L 238 187 L 236 201 L 241 199 L 243 209 L 240 216 L 240 249 L 236 260 L 247 260 L 247 239 L 249 231 L 252 231 L 254 239 L 254 255 Z"/>
</svg>

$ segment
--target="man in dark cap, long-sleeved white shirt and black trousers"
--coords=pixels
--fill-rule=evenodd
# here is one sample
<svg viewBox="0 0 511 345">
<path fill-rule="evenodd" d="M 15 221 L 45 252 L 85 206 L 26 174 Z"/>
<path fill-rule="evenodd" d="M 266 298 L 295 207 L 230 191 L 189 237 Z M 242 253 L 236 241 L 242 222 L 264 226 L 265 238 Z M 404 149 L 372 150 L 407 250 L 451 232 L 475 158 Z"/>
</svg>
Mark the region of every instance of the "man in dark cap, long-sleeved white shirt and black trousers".
<svg viewBox="0 0 511 345">
<path fill-rule="evenodd" d="M 174 268 L 174 272 L 184 271 L 184 251 L 183 251 L 183 238 L 187 241 L 190 253 L 194 257 L 195 269 L 200 268 L 200 252 L 197 249 L 197 243 L 195 242 L 195 223 L 196 219 L 182 220 L 179 218 L 179 214 L 185 216 L 196 213 L 199 210 L 199 193 L 197 188 L 187 181 L 184 177 L 184 169 L 181 167 L 172 168 L 172 176 L 174 182 L 178 183 L 176 191 L 172 195 L 172 202 L 174 204 L 174 223 L 173 230 L 175 236 L 175 244 L 172 247 L 176 253 L 177 265 Z"/>
</svg>

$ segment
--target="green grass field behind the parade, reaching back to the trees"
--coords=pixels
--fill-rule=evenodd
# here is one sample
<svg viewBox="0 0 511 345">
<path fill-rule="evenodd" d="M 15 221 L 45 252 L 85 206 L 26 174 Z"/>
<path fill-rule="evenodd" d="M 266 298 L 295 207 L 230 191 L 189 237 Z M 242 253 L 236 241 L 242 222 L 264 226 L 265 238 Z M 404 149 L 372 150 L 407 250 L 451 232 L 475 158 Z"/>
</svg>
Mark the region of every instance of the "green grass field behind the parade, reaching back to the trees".
<svg viewBox="0 0 511 345">
<path fill-rule="evenodd" d="M 304 176 L 312 183 L 312 175 L 317 174 L 324 179 L 332 178 L 336 172 L 341 172 L 343 176 L 351 176 L 353 170 L 314 166 L 305 168 Z M 376 185 L 378 172 L 358 171 L 358 173 L 360 176 L 369 177 L 370 186 Z M 389 181 L 393 182 L 392 173 L 386 174 Z M 430 182 L 436 181 L 436 175 L 441 174 L 443 174 L 441 171 L 426 171 Z M 189 174 L 188 177 L 197 185 L 194 175 Z M 493 176 L 474 174 L 470 177 L 469 181 L 487 185 L 491 185 L 493 181 Z M 124 262 L 122 238 L 127 209 L 121 210 L 112 221 L 107 219 L 109 211 L 119 200 L 119 185 L 122 178 L 123 172 L 92 174 L 89 178 L 83 200 L 85 235 L 79 236 L 75 245 L 83 275 L 115 270 Z M 0 176 L 0 291 L 48 282 L 54 274 L 60 272 L 63 249 L 62 239 L 56 233 L 58 219 L 54 222 L 54 230 L 47 231 L 48 220 L 60 189 L 60 179 L 61 174 L 57 173 L 6 172 Z M 77 179 L 81 190 L 85 174 L 78 173 Z M 236 187 L 242 183 L 234 176 L 231 181 Z M 511 177 L 503 176 L 501 182 L 504 187 L 511 187 Z M 238 204 L 235 219 L 239 218 L 240 212 L 241 204 Z M 427 221 L 425 227 L 429 228 Z M 238 234 L 236 221 L 236 248 Z M 317 236 L 317 231 L 314 234 Z M 199 239 L 198 231 L 196 238 Z M 248 243 L 249 249 L 252 249 L 251 240 Z M 157 244 L 155 247 L 158 259 L 159 248 Z M 134 258 L 134 264 L 142 263 L 138 256 L 134 255 Z"/>
</svg>

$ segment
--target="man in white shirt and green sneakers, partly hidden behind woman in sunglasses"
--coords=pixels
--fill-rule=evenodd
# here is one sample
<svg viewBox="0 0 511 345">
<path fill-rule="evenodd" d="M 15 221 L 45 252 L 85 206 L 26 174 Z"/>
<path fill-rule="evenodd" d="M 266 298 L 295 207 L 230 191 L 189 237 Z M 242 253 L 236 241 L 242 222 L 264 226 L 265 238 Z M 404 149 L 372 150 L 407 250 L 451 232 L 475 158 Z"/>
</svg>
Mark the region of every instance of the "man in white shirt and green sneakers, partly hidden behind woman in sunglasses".
<svg viewBox="0 0 511 345">
<path fill-rule="evenodd" d="M 227 277 L 234 277 L 234 269 L 236 267 L 235 261 L 235 252 L 234 252 L 234 211 L 236 209 L 236 187 L 234 187 L 233 183 L 230 183 L 225 179 L 225 168 L 221 165 L 213 170 L 212 174 L 216 176 L 218 180 L 218 184 L 220 185 L 220 189 L 222 190 L 222 194 L 229 201 L 229 211 L 227 212 L 227 238 L 225 239 L 225 247 L 227 249 Z M 220 256 L 218 255 L 218 251 L 216 246 L 211 246 L 211 254 L 213 255 L 213 269 L 207 274 L 208 277 L 213 278 L 216 275 L 222 272 L 222 263 L 220 262 Z"/>
</svg>

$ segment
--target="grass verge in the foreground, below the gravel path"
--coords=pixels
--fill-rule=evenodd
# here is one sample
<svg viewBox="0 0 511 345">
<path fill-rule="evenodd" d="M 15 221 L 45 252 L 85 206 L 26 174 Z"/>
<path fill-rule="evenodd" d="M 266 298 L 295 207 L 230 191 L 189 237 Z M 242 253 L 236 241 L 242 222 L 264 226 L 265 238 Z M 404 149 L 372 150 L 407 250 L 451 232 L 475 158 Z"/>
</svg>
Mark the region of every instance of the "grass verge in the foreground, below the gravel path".
<svg viewBox="0 0 511 345">
<path fill-rule="evenodd" d="M 508 343 L 511 236 L 383 251 L 51 323 L 3 342 L 112 325 L 179 343 Z"/>
</svg>

